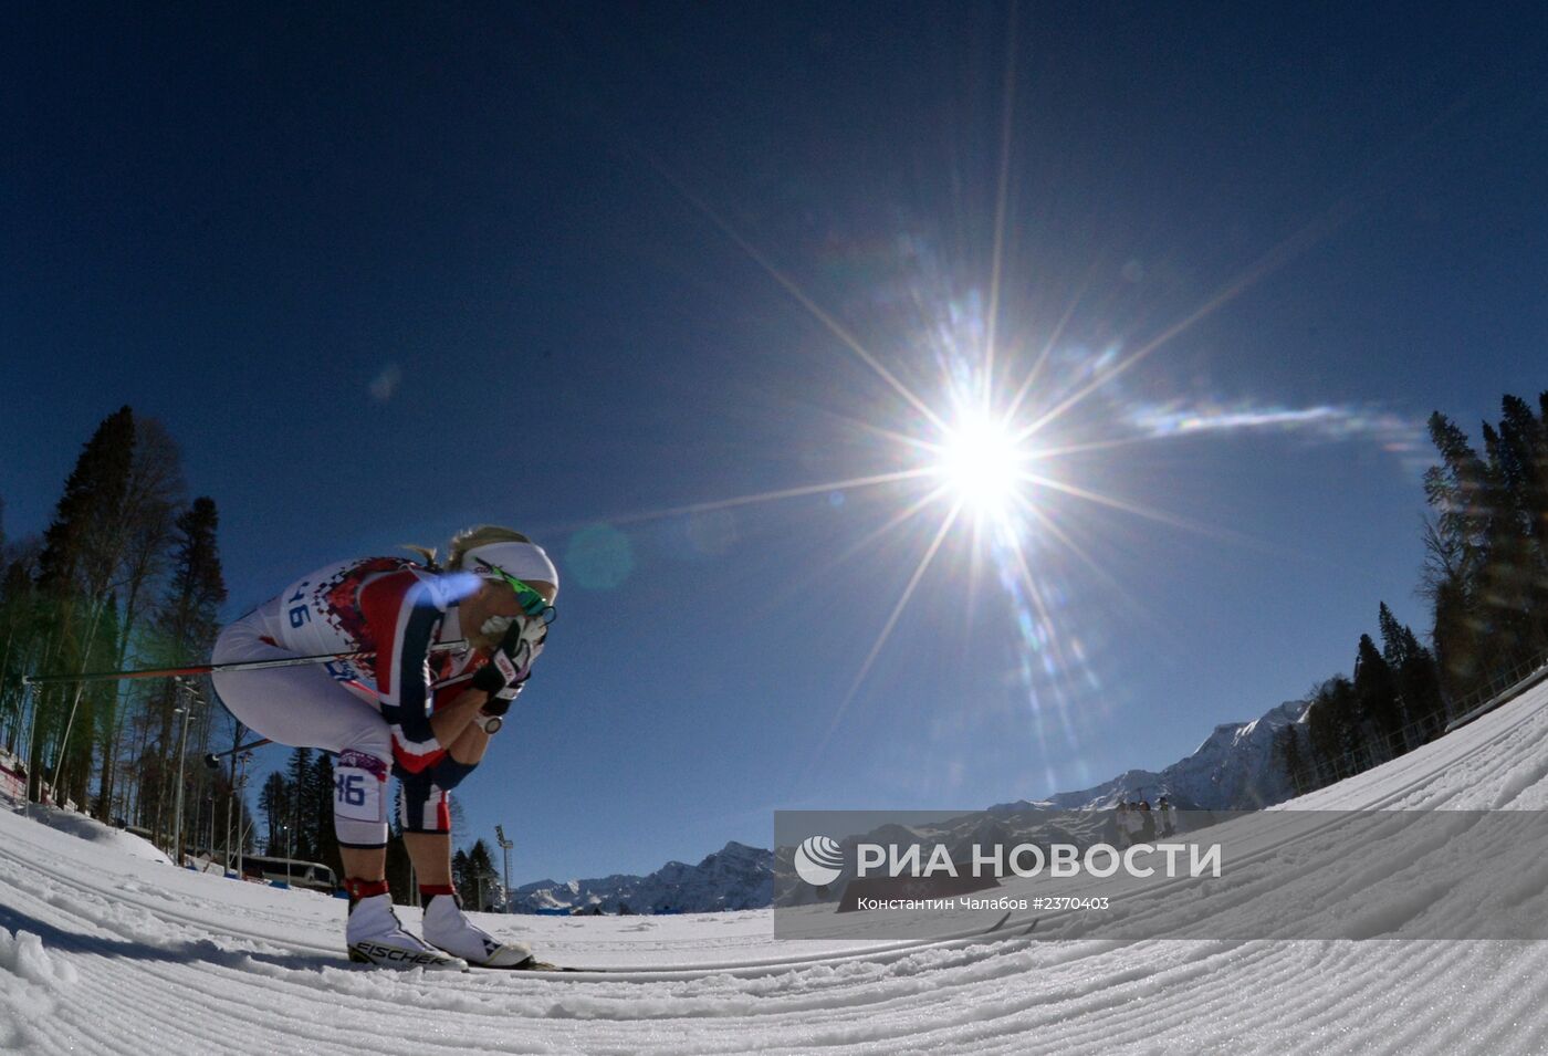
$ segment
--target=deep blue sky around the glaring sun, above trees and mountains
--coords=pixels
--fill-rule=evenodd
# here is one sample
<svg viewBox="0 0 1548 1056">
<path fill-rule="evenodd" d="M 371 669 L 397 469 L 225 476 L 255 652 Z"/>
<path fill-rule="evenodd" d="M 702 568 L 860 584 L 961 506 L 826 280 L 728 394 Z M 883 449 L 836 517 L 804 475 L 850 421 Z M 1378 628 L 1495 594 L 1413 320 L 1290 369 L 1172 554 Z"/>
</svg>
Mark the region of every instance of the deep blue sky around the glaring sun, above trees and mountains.
<svg viewBox="0 0 1548 1056">
<path fill-rule="evenodd" d="M 1416 429 L 1545 387 L 1542 22 L 11 8 L 6 531 L 130 403 L 220 505 L 231 615 L 537 537 L 560 622 L 463 796 L 520 879 L 1159 768 L 1378 601 L 1427 627 Z M 952 494 L 867 540 L 932 478 L 831 482 L 927 463 L 899 389 L 949 417 L 991 328 L 994 406 L 1046 350 L 1017 421 L 1088 390 L 1028 443 L 1090 449 L 1031 463 L 1025 579 L 964 513 L 898 609 Z"/>
</svg>

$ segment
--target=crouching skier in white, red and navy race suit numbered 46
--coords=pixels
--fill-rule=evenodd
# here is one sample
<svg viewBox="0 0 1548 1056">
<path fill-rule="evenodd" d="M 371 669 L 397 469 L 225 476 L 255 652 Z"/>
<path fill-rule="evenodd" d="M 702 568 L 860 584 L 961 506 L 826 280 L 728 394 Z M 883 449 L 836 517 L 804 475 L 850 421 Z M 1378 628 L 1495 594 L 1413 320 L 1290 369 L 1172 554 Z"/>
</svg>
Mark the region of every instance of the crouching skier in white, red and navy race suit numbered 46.
<svg viewBox="0 0 1548 1056">
<path fill-rule="evenodd" d="M 481 525 L 433 550 L 319 568 L 221 630 L 217 664 L 370 653 L 214 675 L 226 708 L 282 745 L 337 753 L 333 825 L 350 895 L 350 960 L 395 968 L 520 968 L 531 951 L 463 914 L 447 793 L 500 729 L 543 650 L 559 573 L 526 536 Z M 387 890 L 387 776 L 424 900 L 424 940 Z M 426 941 L 427 940 L 427 941 Z"/>
</svg>

